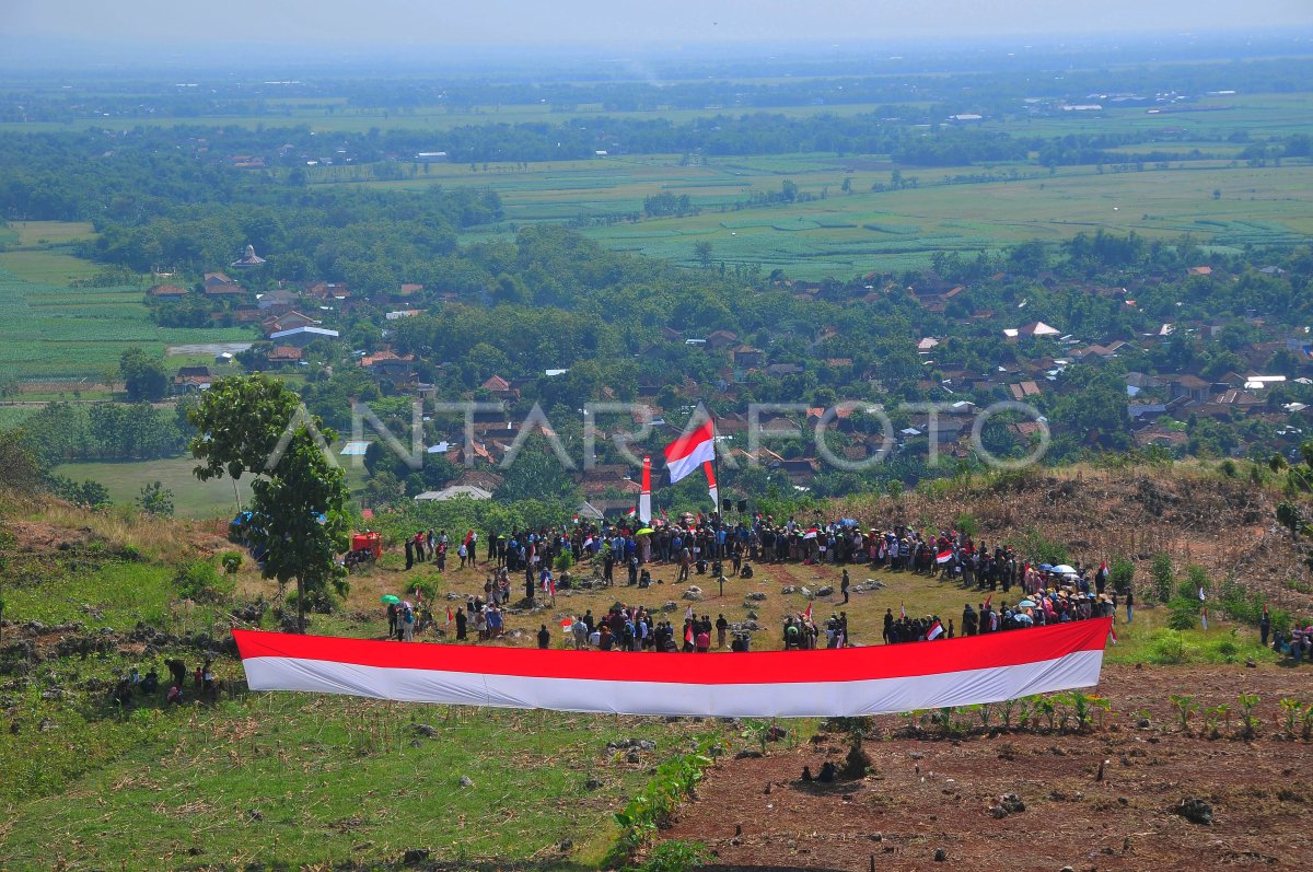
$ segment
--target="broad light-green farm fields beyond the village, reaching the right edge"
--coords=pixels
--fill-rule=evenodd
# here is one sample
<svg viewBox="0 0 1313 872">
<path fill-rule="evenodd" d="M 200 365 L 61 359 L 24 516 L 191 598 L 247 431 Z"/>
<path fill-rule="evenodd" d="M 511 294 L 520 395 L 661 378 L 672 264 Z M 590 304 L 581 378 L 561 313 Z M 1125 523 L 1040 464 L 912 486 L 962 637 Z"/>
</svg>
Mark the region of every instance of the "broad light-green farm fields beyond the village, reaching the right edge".
<svg viewBox="0 0 1313 872">
<path fill-rule="evenodd" d="M 352 168 L 361 172 L 364 168 Z M 503 198 L 506 222 L 473 234 L 575 219 L 608 246 L 693 265 L 693 246 L 709 242 L 726 264 L 781 268 L 801 278 L 847 277 L 872 269 L 918 269 L 937 251 L 998 250 L 1029 239 L 1060 242 L 1103 229 L 1200 243 L 1291 244 L 1313 234 L 1313 164 L 1250 167 L 1232 160 L 1169 162 L 1142 169 L 982 165 L 902 169 L 878 158 L 783 155 L 720 158 L 681 165 L 675 155 L 530 164 L 487 171 L 440 164 L 402 181 L 362 181 L 390 189 L 488 186 Z M 324 176 L 327 181 L 330 176 Z M 345 168 L 337 184 L 348 184 Z M 748 206 L 754 193 L 793 181 L 800 201 Z M 843 193 L 848 180 L 852 193 Z M 911 184 L 915 186 L 911 186 Z M 687 194 L 700 214 L 633 222 L 646 197 Z"/>
</svg>

